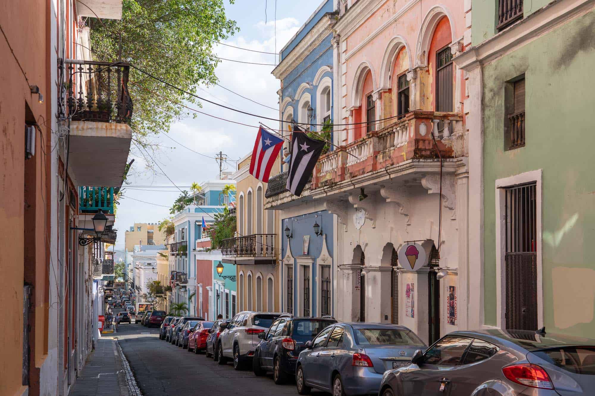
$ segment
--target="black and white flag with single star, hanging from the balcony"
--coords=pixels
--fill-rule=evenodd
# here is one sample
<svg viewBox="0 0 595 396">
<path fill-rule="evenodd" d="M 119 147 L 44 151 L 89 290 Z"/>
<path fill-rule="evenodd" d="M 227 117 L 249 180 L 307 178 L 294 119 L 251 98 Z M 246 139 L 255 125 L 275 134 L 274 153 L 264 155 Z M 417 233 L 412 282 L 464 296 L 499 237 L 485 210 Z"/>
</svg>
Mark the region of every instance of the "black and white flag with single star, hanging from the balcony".
<svg viewBox="0 0 595 396">
<path fill-rule="evenodd" d="M 287 175 L 287 190 L 292 194 L 300 196 L 303 187 L 314 171 L 314 166 L 320 157 L 325 142 L 311 139 L 296 127 L 292 140 L 292 159 L 289 163 L 289 175 Z"/>
</svg>

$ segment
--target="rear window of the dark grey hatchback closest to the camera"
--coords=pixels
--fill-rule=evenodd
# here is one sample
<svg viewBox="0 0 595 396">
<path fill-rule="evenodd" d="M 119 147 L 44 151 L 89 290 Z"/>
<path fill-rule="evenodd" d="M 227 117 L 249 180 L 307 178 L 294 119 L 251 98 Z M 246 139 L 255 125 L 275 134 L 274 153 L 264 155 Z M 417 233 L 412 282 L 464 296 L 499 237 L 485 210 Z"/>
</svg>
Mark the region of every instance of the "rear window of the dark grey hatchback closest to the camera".
<svg viewBox="0 0 595 396">
<path fill-rule="evenodd" d="M 560 347 L 533 353 L 571 373 L 595 375 L 595 347 Z"/>
</svg>

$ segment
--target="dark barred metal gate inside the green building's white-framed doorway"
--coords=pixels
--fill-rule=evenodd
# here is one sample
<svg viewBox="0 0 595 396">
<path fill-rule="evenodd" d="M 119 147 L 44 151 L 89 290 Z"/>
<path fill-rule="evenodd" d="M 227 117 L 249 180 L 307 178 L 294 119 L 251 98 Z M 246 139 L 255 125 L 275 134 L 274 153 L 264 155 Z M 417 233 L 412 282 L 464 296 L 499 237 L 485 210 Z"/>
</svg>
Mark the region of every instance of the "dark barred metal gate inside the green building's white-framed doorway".
<svg viewBox="0 0 595 396">
<path fill-rule="evenodd" d="M 537 186 L 506 188 L 506 328 L 537 329 Z"/>
</svg>

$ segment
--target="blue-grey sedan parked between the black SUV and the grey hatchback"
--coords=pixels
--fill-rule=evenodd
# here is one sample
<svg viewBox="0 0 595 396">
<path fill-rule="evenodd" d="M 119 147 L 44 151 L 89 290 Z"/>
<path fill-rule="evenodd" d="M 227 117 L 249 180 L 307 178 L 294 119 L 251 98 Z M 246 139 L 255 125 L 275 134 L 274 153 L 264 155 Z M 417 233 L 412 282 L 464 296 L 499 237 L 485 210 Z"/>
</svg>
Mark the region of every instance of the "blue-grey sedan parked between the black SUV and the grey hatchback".
<svg viewBox="0 0 595 396">
<path fill-rule="evenodd" d="M 359 322 L 328 326 L 305 347 L 296 363 L 300 395 L 311 388 L 367 395 L 378 393 L 384 372 L 409 366 L 415 351 L 426 345 L 405 326 Z"/>
</svg>

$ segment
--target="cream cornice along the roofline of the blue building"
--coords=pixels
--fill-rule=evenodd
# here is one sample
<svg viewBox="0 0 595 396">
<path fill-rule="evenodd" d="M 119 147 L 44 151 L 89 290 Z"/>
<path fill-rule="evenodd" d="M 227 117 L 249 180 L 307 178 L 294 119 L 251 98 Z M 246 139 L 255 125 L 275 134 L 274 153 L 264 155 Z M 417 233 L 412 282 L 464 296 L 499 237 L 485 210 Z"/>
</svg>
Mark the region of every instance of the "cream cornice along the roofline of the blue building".
<svg viewBox="0 0 595 396">
<path fill-rule="evenodd" d="M 292 49 L 289 54 L 279 64 L 277 67 L 273 69 L 271 72 L 273 76 L 278 78 L 279 80 L 283 80 L 287 77 L 293 69 L 295 69 L 296 65 L 299 65 L 306 56 L 311 54 L 311 52 L 316 48 L 328 34 L 331 33 L 331 27 L 334 24 L 336 15 L 335 14 L 325 14 L 320 21 L 318 21 L 312 29 L 303 37 L 302 40 Z"/>
</svg>

